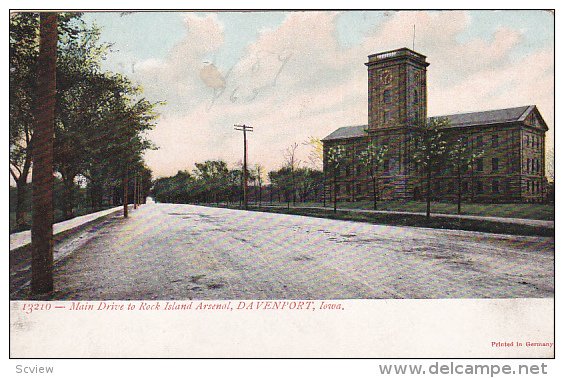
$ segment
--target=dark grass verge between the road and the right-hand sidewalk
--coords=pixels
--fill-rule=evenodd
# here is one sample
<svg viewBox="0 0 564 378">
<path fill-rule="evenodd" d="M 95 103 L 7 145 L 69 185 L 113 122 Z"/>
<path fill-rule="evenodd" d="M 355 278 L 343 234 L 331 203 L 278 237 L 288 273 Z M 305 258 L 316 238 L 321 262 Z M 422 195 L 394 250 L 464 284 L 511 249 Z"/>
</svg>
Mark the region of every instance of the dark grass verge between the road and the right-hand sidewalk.
<svg viewBox="0 0 564 378">
<path fill-rule="evenodd" d="M 551 236 L 554 237 L 554 229 L 541 226 L 518 225 L 511 223 L 492 222 L 474 219 L 453 219 L 434 216 L 426 218 L 424 215 L 382 214 L 382 213 L 355 213 L 338 211 L 332 209 L 306 209 L 295 207 L 250 207 L 251 211 L 270 213 L 282 213 L 302 215 L 316 218 L 328 218 L 348 220 L 355 222 L 366 222 L 372 224 L 384 224 L 392 226 L 427 227 L 439 229 L 454 229 L 465 231 L 488 232 L 496 234 L 525 235 L 525 236 Z"/>
</svg>

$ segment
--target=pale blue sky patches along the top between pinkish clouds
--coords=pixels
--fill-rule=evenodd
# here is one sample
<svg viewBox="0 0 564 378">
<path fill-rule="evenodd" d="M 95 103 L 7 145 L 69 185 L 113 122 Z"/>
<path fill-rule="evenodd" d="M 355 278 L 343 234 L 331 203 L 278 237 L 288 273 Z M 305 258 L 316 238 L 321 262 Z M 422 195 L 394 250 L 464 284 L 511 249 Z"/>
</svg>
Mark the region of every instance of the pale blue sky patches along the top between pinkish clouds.
<svg viewBox="0 0 564 378">
<path fill-rule="evenodd" d="M 348 11 L 337 20 L 337 38 L 343 46 L 358 45 L 367 32 L 394 12 Z M 502 26 L 524 31 L 525 40 L 517 53 L 546 48 L 553 43 L 554 17 L 547 11 L 469 11 L 471 24 L 457 36 L 460 42 L 474 38 L 491 40 Z M 196 14 L 201 14 L 196 12 Z M 225 28 L 225 45 L 212 59 L 228 67 L 236 63 L 245 47 L 255 41 L 260 30 L 276 28 L 287 12 L 218 12 Z M 84 19 L 102 29 L 102 40 L 114 43 L 115 49 L 135 55 L 139 60 L 164 58 L 182 40 L 185 26 L 179 12 L 87 13 Z M 406 44 L 411 47 L 411 41 Z M 417 44 L 417 26 L 416 26 Z"/>
</svg>

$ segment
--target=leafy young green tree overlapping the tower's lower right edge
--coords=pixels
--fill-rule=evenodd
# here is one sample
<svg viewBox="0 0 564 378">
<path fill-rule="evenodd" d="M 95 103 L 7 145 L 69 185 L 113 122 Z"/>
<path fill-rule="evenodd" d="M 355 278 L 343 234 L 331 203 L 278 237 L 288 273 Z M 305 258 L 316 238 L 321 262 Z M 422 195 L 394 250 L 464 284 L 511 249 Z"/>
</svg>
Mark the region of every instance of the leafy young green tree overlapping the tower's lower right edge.
<svg viewBox="0 0 564 378">
<path fill-rule="evenodd" d="M 431 216 L 431 182 L 448 163 L 447 140 L 442 132 L 448 124 L 447 118 L 431 118 L 427 124 L 417 126 L 416 129 L 414 160 L 422 168 L 426 178 L 427 218 Z"/>
</svg>

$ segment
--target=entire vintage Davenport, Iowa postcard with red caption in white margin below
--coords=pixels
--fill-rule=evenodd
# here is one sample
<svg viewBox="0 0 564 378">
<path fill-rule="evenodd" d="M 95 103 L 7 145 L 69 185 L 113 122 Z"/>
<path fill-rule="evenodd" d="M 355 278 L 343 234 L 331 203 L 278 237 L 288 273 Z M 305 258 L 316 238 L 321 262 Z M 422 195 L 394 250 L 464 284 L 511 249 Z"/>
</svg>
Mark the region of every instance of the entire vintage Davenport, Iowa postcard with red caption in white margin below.
<svg viewBox="0 0 564 378">
<path fill-rule="evenodd" d="M 12 10 L 10 357 L 553 358 L 554 32 Z"/>
</svg>

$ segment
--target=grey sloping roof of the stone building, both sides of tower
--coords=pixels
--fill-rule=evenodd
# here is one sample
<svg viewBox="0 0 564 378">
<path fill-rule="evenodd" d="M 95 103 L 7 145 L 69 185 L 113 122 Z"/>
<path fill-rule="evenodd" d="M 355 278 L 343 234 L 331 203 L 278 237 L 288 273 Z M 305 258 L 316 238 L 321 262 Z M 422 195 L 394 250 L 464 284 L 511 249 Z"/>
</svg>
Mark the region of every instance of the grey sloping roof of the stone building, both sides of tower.
<svg viewBox="0 0 564 378">
<path fill-rule="evenodd" d="M 428 119 L 446 117 L 450 122 L 450 127 L 493 125 L 524 121 L 535 108 L 535 105 L 527 105 L 517 108 L 487 110 L 484 112 L 449 114 L 430 117 Z M 366 135 L 365 130 L 367 128 L 368 125 L 340 127 L 323 138 L 322 141 L 362 137 Z"/>
</svg>

